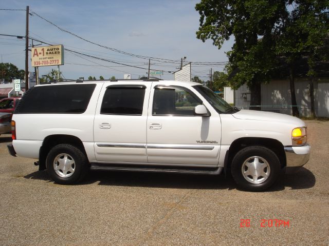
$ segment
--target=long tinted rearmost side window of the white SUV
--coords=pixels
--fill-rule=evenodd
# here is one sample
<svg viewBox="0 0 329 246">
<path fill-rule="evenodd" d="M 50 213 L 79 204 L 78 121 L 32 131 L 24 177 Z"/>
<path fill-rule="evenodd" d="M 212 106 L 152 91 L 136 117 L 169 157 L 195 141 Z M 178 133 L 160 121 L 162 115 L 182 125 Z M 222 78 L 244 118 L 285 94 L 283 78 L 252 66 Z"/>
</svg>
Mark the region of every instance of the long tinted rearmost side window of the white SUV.
<svg viewBox="0 0 329 246">
<path fill-rule="evenodd" d="M 86 111 L 95 84 L 31 88 L 16 107 L 16 114 L 81 114 Z"/>
</svg>

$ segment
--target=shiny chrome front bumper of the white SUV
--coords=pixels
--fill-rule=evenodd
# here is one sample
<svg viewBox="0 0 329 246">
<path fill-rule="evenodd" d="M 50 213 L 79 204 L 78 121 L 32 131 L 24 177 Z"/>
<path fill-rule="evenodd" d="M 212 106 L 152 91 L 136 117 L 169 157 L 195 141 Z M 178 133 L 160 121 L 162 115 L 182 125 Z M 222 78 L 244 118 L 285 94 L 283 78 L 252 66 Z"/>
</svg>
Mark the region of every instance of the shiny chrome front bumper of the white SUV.
<svg viewBox="0 0 329 246">
<path fill-rule="evenodd" d="M 286 146 L 284 147 L 286 153 L 286 173 L 294 173 L 309 160 L 310 146 L 305 144 L 303 146 Z"/>
</svg>

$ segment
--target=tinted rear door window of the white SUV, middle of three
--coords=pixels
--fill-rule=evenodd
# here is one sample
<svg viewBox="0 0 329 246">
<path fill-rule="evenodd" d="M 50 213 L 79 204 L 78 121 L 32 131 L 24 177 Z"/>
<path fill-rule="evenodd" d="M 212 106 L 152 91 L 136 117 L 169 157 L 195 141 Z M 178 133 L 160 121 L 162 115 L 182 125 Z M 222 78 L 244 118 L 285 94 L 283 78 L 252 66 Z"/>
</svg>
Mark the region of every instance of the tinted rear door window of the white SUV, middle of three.
<svg viewBox="0 0 329 246">
<path fill-rule="evenodd" d="M 145 86 L 110 86 L 104 94 L 101 114 L 142 115 Z"/>
</svg>

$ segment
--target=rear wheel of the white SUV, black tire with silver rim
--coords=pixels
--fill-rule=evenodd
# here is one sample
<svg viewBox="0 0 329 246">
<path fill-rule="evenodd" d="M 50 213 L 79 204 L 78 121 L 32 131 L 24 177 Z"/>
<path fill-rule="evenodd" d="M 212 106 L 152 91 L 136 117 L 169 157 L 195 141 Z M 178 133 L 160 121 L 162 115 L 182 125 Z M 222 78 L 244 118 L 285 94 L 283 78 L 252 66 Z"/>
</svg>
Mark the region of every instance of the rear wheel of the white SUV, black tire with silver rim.
<svg viewBox="0 0 329 246">
<path fill-rule="evenodd" d="M 46 167 L 53 181 L 69 185 L 79 182 L 85 177 L 89 163 L 85 154 L 77 147 L 60 144 L 49 151 Z"/>
</svg>

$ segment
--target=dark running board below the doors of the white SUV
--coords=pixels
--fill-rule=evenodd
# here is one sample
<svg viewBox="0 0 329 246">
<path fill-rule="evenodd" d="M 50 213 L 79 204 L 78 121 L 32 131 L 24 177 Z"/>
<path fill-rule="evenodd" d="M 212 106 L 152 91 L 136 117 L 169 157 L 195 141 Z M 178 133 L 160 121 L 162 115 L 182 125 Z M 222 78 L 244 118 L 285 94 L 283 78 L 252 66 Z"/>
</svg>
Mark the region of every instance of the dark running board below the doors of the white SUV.
<svg viewBox="0 0 329 246">
<path fill-rule="evenodd" d="M 150 166 L 108 166 L 99 165 L 98 163 L 91 163 L 90 170 L 93 171 L 126 171 L 126 172 L 153 172 L 153 173 L 188 173 L 188 174 L 203 174 L 203 175 L 218 175 L 222 172 L 223 168 L 169 168 L 169 167 L 150 167 Z"/>
</svg>

